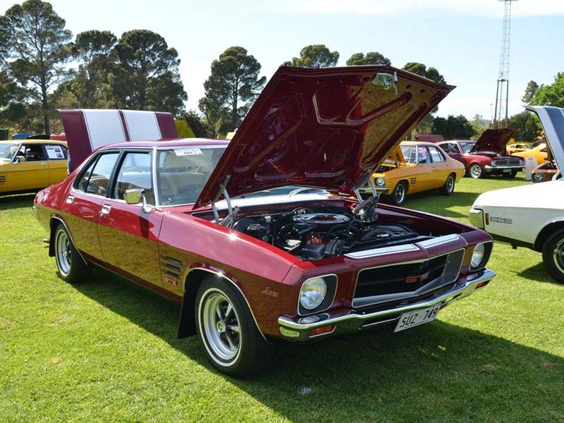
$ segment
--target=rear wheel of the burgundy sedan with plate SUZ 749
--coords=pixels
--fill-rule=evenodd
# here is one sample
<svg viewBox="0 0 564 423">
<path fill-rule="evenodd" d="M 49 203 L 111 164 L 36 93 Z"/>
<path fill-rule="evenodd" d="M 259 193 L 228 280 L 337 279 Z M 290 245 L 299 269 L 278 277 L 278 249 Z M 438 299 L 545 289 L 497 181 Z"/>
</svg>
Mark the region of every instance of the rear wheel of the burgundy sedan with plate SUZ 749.
<svg viewBox="0 0 564 423">
<path fill-rule="evenodd" d="M 90 267 L 84 262 L 73 245 L 71 235 L 68 234 L 63 223 L 55 229 L 55 260 L 57 273 L 67 283 L 79 283 L 90 271 Z"/>
</svg>

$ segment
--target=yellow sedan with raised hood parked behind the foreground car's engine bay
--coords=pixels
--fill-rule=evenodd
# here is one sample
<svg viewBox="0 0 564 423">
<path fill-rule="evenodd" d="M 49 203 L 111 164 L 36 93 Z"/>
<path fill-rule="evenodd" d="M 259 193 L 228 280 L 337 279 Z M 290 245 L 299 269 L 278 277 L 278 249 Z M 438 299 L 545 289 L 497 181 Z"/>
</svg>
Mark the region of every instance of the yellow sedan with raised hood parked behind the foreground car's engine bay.
<svg viewBox="0 0 564 423">
<path fill-rule="evenodd" d="M 400 205 L 405 195 L 414 192 L 438 189 L 443 195 L 452 195 L 464 173 L 460 161 L 451 159 L 433 143 L 403 141 L 372 174 L 372 180 L 385 199 Z"/>
</svg>

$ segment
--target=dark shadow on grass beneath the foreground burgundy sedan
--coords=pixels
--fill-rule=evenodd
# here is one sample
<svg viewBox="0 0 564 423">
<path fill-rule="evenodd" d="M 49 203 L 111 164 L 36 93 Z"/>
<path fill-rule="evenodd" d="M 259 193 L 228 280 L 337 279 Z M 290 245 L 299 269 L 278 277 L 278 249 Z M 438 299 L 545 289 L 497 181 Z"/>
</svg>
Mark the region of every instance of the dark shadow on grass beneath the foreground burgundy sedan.
<svg viewBox="0 0 564 423">
<path fill-rule="evenodd" d="M 213 371 L 195 337 L 176 338 L 178 305 L 98 271 L 77 289 Z M 435 321 L 397 334 L 281 343 L 256 379 L 225 377 L 295 422 L 553 422 L 564 419 L 563 372 L 561 357 Z"/>
</svg>

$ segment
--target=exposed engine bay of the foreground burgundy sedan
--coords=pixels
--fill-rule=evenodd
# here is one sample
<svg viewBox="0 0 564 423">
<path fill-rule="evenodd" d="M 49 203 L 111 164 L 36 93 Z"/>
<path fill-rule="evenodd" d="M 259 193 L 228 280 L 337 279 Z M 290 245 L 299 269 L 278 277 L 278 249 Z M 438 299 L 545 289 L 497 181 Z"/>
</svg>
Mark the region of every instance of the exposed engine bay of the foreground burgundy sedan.
<svg viewBox="0 0 564 423">
<path fill-rule="evenodd" d="M 299 207 L 278 214 L 253 214 L 235 220 L 233 229 L 270 243 L 302 260 L 337 257 L 433 238 L 398 223 L 360 219 L 344 207 Z"/>
</svg>

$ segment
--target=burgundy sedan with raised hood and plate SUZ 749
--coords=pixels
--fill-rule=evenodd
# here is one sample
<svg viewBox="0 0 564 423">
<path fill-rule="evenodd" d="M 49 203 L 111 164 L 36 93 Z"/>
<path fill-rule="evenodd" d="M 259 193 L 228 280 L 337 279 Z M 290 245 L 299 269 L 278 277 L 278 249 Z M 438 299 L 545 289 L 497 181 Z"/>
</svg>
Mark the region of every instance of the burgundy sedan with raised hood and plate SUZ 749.
<svg viewBox="0 0 564 423">
<path fill-rule="evenodd" d="M 452 89 L 387 66 L 281 67 L 231 142 L 106 145 L 39 192 L 49 255 L 69 283 L 98 266 L 181 303 L 178 336 L 233 376 L 262 370 L 276 338 L 425 324 L 495 276 L 491 237 L 360 190 Z"/>
</svg>

